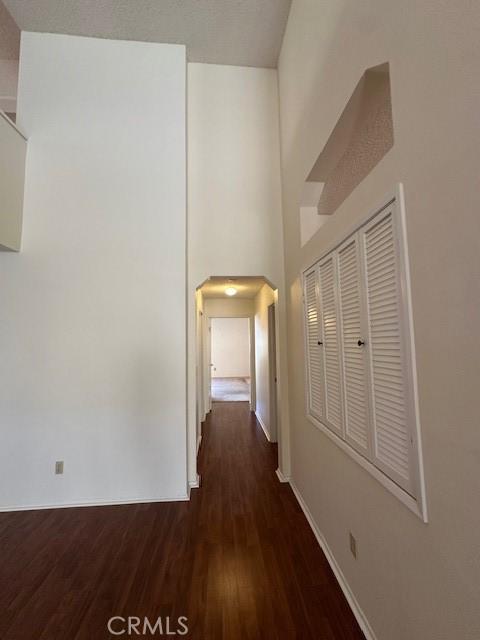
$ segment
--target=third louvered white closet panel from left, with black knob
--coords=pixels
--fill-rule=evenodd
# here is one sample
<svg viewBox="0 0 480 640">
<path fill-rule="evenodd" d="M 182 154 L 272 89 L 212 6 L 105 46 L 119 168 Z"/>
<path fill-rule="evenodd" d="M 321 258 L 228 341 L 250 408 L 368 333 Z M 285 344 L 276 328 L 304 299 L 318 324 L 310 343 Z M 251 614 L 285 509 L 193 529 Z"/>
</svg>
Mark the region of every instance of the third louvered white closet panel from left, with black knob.
<svg viewBox="0 0 480 640">
<path fill-rule="evenodd" d="M 358 235 L 355 235 L 338 250 L 344 422 L 347 442 L 368 457 L 371 452 L 371 430 L 367 382 L 367 327 L 363 309 L 363 278 L 358 244 Z"/>
</svg>

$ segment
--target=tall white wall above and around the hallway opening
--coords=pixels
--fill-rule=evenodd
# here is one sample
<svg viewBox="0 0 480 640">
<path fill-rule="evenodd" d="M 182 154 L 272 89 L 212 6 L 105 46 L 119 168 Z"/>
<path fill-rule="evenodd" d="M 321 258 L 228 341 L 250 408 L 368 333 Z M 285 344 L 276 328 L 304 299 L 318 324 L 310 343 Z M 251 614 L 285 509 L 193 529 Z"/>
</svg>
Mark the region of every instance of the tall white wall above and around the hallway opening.
<svg viewBox="0 0 480 640">
<path fill-rule="evenodd" d="M 214 275 L 263 275 L 279 287 L 280 339 L 285 341 L 278 90 L 272 69 L 188 65 L 191 481 L 196 478 L 195 288 Z M 286 388 L 284 361 L 282 367 Z M 281 397 L 286 416 L 287 394 Z M 286 469 L 287 426 L 284 431 L 280 464 Z"/>
</svg>

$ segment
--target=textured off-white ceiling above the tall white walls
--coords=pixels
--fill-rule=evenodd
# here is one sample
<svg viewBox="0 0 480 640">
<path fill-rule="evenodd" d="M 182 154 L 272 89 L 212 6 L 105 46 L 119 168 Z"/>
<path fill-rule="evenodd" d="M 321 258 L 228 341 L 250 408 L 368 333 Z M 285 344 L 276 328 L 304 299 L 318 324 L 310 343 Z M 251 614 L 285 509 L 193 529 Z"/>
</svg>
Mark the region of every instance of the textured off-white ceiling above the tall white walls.
<svg viewBox="0 0 480 640">
<path fill-rule="evenodd" d="M 20 29 L 187 45 L 191 62 L 276 67 L 291 0 L 4 0 Z"/>
</svg>

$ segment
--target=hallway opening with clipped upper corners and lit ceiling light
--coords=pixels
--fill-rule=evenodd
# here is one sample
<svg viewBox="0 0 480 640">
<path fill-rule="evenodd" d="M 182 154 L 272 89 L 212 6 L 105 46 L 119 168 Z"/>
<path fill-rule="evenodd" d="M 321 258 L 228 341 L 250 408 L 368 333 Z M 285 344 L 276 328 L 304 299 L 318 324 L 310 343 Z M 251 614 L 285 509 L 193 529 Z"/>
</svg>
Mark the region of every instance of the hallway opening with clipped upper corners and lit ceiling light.
<svg viewBox="0 0 480 640">
<path fill-rule="evenodd" d="M 215 402 L 249 402 L 267 440 L 277 442 L 277 304 L 263 276 L 212 276 L 197 288 L 197 442 Z"/>
</svg>

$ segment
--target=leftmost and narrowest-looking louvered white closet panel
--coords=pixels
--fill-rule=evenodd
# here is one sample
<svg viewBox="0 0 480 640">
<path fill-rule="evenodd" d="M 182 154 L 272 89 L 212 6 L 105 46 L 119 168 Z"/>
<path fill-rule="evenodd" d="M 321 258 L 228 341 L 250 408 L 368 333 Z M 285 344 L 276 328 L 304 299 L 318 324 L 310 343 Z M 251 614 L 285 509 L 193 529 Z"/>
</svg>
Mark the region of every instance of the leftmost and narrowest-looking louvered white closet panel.
<svg viewBox="0 0 480 640">
<path fill-rule="evenodd" d="M 323 420 L 325 413 L 323 353 L 321 347 L 321 327 L 318 309 L 318 274 L 311 269 L 304 277 L 304 300 L 306 316 L 307 348 L 307 393 L 308 409 L 312 416 Z"/>
</svg>

